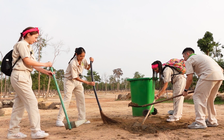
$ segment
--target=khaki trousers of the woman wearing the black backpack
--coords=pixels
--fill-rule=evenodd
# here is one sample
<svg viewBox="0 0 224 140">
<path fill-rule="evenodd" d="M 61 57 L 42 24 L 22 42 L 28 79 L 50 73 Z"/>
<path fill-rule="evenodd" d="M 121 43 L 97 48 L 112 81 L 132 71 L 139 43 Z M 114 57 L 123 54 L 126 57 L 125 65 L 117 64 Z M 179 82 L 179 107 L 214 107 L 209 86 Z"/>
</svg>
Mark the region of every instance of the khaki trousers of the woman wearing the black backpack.
<svg viewBox="0 0 224 140">
<path fill-rule="evenodd" d="M 38 102 L 32 90 L 30 72 L 13 70 L 10 80 L 16 96 L 8 132 L 15 134 L 20 131 L 19 123 L 21 122 L 25 109 L 28 113 L 31 131 L 35 133 L 41 130 Z"/>
</svg>

